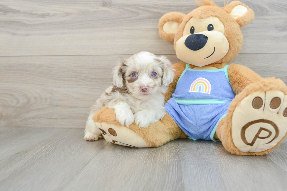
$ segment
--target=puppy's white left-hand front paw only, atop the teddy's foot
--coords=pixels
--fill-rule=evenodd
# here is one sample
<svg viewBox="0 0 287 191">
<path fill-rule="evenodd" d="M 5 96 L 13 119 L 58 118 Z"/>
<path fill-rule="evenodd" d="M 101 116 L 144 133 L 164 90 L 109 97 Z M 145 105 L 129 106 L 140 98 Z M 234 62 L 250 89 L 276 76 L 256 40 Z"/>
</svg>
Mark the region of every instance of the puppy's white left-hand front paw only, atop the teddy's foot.
<svg viewBox="0 0 287 191">
<path fill-rule="evenodd" d="M 117 121 L 122 126 L 126 124 L 126 126 L 129 127 L 129 125 L 134 122 L 134 113 L 129 108 L 123 107 L 121 109 L 115 109 L 115 114 Z"/>
</svg>

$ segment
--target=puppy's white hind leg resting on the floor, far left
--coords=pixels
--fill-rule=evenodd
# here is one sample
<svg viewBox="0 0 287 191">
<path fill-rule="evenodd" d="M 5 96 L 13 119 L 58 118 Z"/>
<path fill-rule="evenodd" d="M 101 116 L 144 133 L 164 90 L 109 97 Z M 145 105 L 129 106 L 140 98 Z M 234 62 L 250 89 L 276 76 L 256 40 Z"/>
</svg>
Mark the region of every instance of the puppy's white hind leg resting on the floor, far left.
<svg viewBox="0 0 287 191">
<path fill-rule="evenodd" d="M 86 123 L 86 129 L 85 129 L 85 139 L 88 141 L 96 141 L 99 138 L 102 138 L 102 134 L 97 127 L 96 123 L 93 121 L 93 115 L 94 113 L 91 113 L 88 117 L 87 123 Z"/>
</svg>

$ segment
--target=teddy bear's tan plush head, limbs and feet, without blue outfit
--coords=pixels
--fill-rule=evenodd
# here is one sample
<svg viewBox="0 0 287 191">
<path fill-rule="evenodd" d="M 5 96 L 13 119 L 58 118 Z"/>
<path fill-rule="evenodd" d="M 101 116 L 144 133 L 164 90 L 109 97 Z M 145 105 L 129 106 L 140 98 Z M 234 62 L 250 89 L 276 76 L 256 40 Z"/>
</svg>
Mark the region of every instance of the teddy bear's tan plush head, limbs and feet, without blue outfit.
<svg viewBox="0 0 287 191">
<path fill-rule="evenodd" d="M 196 3 L 199 7 L 187 15 L 167 13 L 160 18 L 158 23 L 160 37 L 174 42 L 176 54 L 183 61 L 173 65 L 175 77 L 164 94 L 165 102 L 174 99 L 173 93 L 179 90 L 177 82 L 182 77 L 186 66 L 194 69 L 202 67 L 204 71 L 205 69 L 221 69 L 228 65 L 242 48 L 243 35 L 240 27 L 249 24 L 254 19 L 252 9 L 240 1 L 232 1 L 222 8 L 212 0 L 202 0 L 202 3 L 196 0 Z M 197 35 L 197 37 L 192 35 Z M 204 40 L 207 38 L 207 41 Z M 220 40 L 221 38 L 226 38 L 227 41 Z M 224 43 L 228 43 L 228 48 L 226 48 L 228 51 L 221 54 L 219 50 L 222 47 L 218 46 L 223 46 Z M 210 52 L 210 48 L 213 52 Z M 206 57 L 205 54 L 207 54 Z M 236 96 L 232 101 L 230 100 L 228 112 L 225 111 L 226 116 L 223 115 L 223 118 L 217 121 L 214 137 L 218 137 L 225 149 L 232 154 L 264 155 L 271 152 L 280 145 L 287 133 L 286 85 L 279 79 L 263 79 L 249 68 L 238 64 L 230 64 L 226 73 L 226 78 L 228 76 L 232 88 L 230 91 L 233 91 Z M 218 84 L 220 83 L 221 80 L 218 78 Z M 204 110 L 207 109 L 218 111 L 216 105 L 210 105 L 210 107 L 205 105 L 203 110 L 197 108 L 202 116 L 205 115 Z M 182 118 L 187 111 L 180 110 Z M 193 117 L 198 116 L 194 114 Z M 184 133 L 174 118 L 166 113 L 162 120 L 150 124 L 147 128 L 139 128 L 135 123 L 127 128 L 120 126 L 116 121 L 112 109 L 102 108 L 93 116 L 93 120 L 99 126 L 105 127 L 105 132 L 102 134 L 106 136 L 107 141 L 131 147 L 158 147 L 177 138 L 187 138 L 188 132 Z M 111 132 L 107 132 L 109 129 L 112 129 Z M 117 137 L 124 137 L 118 140 L 121 143 L 116 142 Z"/>
</svg>

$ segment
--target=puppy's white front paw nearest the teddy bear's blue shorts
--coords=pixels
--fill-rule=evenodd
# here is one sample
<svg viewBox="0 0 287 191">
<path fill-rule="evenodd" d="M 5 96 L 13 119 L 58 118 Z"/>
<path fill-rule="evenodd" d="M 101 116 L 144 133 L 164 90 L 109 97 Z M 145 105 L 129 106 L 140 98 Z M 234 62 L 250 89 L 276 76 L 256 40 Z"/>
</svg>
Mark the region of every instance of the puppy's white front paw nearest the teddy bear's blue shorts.
<svg viewBox="0 0 287 191">
<path fill-rule="evenodd" d="M 143 111 L 136 112 L 134 114 L 134 120 L 136 121 L 136 125 L 139 127 L 146 128 L 150 123 L 155 122 L 156 113 L 150 109 L 145 109 Z"/>
</svg>

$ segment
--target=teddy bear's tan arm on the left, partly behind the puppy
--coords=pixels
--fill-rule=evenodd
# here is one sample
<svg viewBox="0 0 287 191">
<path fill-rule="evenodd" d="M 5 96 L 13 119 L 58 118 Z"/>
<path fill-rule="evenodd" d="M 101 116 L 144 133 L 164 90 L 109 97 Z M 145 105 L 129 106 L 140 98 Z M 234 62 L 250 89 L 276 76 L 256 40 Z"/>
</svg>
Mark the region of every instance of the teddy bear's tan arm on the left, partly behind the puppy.
<svg viewBox="0 0 287 191">
<path fill-rule="evenodd" d="M 164 94 L 165 103 L 171 98 L 171 95 L 174 93 L 177 81 L 180 78 L 182 72 L 184 71 L 185 66 L 186 64 L 184 62 L 178 62 L 172 65 L 173 69 L 175 69 L 175 76 L 173 78 L 173 81 L 168 85 L 168 91 Z"/>
</svg>

